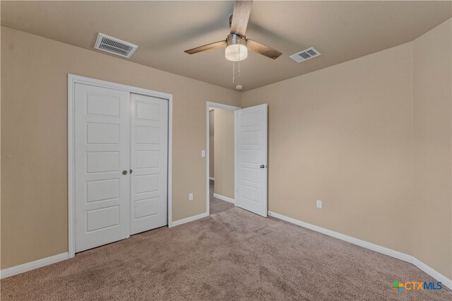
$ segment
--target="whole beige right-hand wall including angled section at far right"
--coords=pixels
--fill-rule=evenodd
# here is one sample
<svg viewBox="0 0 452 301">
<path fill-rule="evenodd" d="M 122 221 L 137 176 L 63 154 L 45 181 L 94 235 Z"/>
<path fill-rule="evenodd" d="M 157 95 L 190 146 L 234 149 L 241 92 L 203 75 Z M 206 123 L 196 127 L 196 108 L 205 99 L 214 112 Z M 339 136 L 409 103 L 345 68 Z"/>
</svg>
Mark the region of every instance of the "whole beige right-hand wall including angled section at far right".
<svg viewBox="0 0 452 301">
<path fill-rule="evenodd" d="M 448 20 L 415 42 L 243 93 L 242 107 L 269 105 L 269 210 L 451 278 L 450 39 Z"/>
</svg>

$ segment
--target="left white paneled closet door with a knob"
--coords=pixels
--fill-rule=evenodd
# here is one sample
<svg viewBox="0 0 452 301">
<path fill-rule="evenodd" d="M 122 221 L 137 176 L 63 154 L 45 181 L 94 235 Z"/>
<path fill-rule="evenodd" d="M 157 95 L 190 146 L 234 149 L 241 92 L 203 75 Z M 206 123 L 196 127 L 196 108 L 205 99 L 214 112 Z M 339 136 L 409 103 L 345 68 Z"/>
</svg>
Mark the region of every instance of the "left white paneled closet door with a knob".
<svg viewBox="0 0 452 301">
<path fill-rule="evenodd" d="M 129 95 L 75 85 L 76 252 L 129 237 Z"/>
</svg>

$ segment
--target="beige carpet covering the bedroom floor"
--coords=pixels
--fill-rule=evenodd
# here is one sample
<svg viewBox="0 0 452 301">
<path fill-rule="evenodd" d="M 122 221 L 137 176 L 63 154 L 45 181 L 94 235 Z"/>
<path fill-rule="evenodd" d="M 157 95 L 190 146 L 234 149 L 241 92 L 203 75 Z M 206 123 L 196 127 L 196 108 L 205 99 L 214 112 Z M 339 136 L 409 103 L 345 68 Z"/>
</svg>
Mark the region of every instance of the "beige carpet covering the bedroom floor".
<svg viewBox="0 0 452 301">
<path fill-rule="evenodd" d="M 452 300 L 420 269 L 240 208 L 6 278 L 1 300 Z"/>
</svg>

